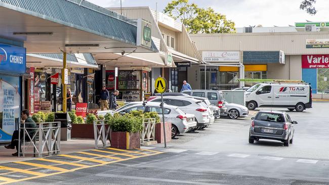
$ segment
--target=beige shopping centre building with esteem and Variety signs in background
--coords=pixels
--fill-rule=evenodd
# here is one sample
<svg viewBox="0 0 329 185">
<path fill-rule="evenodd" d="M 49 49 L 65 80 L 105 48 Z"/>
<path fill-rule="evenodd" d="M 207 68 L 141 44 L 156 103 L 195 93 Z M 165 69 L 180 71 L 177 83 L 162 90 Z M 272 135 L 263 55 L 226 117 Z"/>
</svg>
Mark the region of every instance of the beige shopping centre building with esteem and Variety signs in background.
<svg viewBox="0 0 329 185">
<path fill-rule="evenodd" d="M 313 89 L 328 89 L 328 30 L 328 22 L 305 22 L 190 35 L 207 64 L 192 66 L 188 73 L 195 77 L 188 82 L 193 88 L 231 89 L 239 86 L 237 78 L 291 79 L 311 83 Z"/>
</svg>

